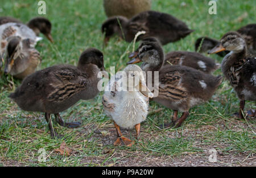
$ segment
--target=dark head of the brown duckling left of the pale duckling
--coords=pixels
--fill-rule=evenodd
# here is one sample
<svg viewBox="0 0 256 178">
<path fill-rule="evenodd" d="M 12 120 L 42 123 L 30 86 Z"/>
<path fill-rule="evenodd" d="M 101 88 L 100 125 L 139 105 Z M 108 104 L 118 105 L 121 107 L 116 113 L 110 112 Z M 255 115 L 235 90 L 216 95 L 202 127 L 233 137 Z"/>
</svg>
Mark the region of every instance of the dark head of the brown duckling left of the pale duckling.
<svg viewBox="0 0 256 178">
<path fill-rule="evenodd" d="M 97 67 L 100 71 L 105 71 L 103 53 L 96 48 L 88 48 L 81 53 L 77 68 L 84 71 L 86 68 Z"/>
</svg>

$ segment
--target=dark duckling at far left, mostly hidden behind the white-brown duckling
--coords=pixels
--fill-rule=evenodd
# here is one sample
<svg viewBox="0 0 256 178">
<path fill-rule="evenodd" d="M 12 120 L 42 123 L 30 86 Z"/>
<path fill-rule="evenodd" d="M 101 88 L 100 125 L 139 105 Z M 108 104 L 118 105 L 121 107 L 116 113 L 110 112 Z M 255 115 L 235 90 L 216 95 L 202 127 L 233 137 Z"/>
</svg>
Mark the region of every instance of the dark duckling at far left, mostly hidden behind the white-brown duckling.
<svg viewBox="0 0 256 178">
<path fill-rule="evenodd" d="M 20 20 L 10 16 L 0 16 L 0 25 L 10 22 L 22 23 Z M 52 24 L 47 18 L 42 16 L 35 17 L 27 23 L 27 26 L 35 32 L 36 36 L 39 36 L 41 32 L 50 42 L 53 43 L 53 38 L 51 35 Z"/>
</svg>

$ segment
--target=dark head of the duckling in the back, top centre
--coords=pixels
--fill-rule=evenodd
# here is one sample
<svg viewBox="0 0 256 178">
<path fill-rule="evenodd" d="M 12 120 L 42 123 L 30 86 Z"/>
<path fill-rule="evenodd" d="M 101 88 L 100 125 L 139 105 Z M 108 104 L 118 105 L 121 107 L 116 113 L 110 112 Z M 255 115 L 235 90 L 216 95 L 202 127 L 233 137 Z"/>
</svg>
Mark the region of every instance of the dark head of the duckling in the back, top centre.
<svg viewBox="0 0 256 178">
<path fill-rule="evenodd" d="M 104 44 L 107 45 L 109 39 L 114 35 L 117 34 L 121 38 L 123 38 L 123 33 L 125 31 L 125 26 L 128 22 L 128 19 L 124 16 L 114 16 L 106 20 L 101 26 L 102 34 L 105 33 Z M 122 28 L 121 28 L 121 27 Z"/>
</svg>

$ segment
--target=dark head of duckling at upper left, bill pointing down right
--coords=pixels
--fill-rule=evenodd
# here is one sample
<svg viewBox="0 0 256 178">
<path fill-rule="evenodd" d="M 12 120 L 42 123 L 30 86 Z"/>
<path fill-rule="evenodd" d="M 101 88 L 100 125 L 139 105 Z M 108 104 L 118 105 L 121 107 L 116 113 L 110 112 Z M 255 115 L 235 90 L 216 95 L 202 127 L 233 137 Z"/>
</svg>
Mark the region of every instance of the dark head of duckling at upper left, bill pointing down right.
<svg viewBox="0 0 256 178">
<path fill-rule="evenodd" d="M 35 32 L 36 36 L 41 32 L 50 42 L 53 43 L 51 35 L 52 24 L 47 18 L 36 17 L 31 19 L 30 22 L 27 23 L 27 26 Z"/>
</svg>

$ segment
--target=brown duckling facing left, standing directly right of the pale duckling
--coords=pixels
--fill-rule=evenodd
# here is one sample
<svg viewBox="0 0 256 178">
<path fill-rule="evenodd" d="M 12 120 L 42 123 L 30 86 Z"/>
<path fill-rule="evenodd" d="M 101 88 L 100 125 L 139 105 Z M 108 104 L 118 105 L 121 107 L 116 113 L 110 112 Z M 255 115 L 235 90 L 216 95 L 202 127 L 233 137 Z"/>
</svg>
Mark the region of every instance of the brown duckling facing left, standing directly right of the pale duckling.
<svg viewBox="0 0 256 178">
<path fill-rule="evenodd" d="M 221 76 L 215 77 L 183 65 L 163 66 L 163 49 L 155 42 L 144 44 L 139 48 L 138 56 L 127 64 L 135 64 L 141 61 L 143 61 L 141 68 L 146 73 L 148 71 L 159 71 L 157 80 L 159 84 L 151 85 L 154 86 L 154 93 L 155 90 L 158 90 L 158 94 L 156 92 L 152 100 L 174 110 L 172 123 L 167 123 L 164 127 L 180 127 L 188 117 L 189 109 L 210 100 L 222 81 Z M 147 75 L 147 80 L 148 77 L 151 76 Z M 154 81 L 155 75 L 152 77 L 151 81 Z M 183 113 L 179 119 L 177 119 L 178 111 Z"/>
</svg>

